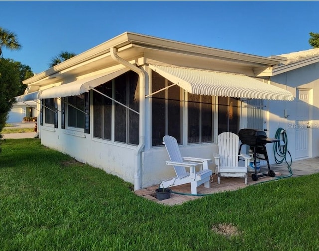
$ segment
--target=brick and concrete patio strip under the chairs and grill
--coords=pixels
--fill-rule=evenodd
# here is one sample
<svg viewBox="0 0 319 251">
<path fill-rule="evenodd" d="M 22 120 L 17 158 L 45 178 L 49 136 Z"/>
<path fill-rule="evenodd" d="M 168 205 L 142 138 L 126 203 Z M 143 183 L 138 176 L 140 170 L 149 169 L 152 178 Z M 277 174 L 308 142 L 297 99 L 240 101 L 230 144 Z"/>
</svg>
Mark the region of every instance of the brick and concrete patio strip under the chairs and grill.
<svg viewBox="0 0 319 251">
<path fill-rule="evenodd" d="M 276 174 L 275 177 L 265 176 L 258 178 L 257 181 L 253 181 L 251 179 L 251 173 L 248 173 L 248 185 L 254 185 L 256 183 L 264 182 L 264 181 L 275 181 L 280 177 L 287 177 L 290 172 L 287 168 L 288 165 L 286 163 L 271 165 L 271 170 L 273 170 Z M 263 168 L 266 168 L 263 170 Z M 267 167 L 261 167 L 261 172 L 266 173 Z M 309 175 L 314 173 L 319 173 L 319 157 L 310 158 L 305 160 L 294 161 L 291 164 L 291 170 L 293 171 L 292 177 Z M 290 177 L 291 178 L 291 177 Z M 243 178 L 221 178 L 220 184 L 217 184 L 217 176 L 213 175 L 213 181 L 210 183 L 210 188 L 205 188 L 204 185 L 200 185 L 197 187 L 197 193 L 201 196 L 193 196 L 187 195 L 190 194 L 190 184 L 174 186 L 172 187 L 173 193 L 171 193 L 170 199 L 166 200 L 157 200 L 155 189 L 159 188 L 159 184 L 151 187 L 147 187 L 138 191 L 135 191 L 135 194 L 141 196 L 145 199 L 152 200 L 154 202 L 164 204 L 164 205 L 178 205 L 182 204 L 189 200 L 202 198 L 202 195 L 205 194 L 214 194 L 218 192 L 224 191 L 234 191 L 240 188 L 247 187 L 244 183 Z M 183 193 L 183 194 L 181 194 Z"/>
</svg>

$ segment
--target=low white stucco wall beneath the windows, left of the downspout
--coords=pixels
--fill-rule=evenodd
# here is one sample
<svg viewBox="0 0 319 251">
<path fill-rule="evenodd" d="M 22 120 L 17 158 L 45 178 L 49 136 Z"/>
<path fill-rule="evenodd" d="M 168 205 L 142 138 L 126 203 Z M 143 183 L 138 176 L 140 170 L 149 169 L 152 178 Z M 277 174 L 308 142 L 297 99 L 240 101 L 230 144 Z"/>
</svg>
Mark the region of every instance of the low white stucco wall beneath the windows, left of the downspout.
<svg viewBox="0 0 319 251">
<path fill-rule="evenodd" d="M 102 142 L 83 132 L 46 126 L 41 128 L 41 143 L 134 183 L 135 147 Z"/>
</svg>

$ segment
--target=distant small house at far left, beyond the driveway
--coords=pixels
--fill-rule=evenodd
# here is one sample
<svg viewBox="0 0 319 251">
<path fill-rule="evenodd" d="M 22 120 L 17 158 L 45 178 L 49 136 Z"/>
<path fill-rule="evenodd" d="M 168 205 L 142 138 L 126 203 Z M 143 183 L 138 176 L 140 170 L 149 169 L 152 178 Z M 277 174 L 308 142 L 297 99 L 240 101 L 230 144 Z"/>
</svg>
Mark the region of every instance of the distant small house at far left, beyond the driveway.
<svg viewBox="0 0 319 251">
<path fill-rule="evenodd" d="M 6 123 L 21 123 L 24 122 L 24 118 L 37 117 L 38 112 L 36 110 L 35 101 L 17 102 L 13 105 L 8 114 Z"/>
</svg>

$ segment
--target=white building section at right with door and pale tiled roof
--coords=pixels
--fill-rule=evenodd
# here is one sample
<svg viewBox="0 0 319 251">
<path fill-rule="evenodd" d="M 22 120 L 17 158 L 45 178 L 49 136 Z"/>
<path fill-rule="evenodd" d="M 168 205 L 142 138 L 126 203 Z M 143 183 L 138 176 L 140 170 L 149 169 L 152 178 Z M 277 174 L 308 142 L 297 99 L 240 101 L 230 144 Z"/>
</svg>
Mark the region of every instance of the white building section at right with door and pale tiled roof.
<svg viewBox="0 0 319 251">
<path fill-rule="evenodd" d="M 267 127 L 272 136 L 278 127 L 286 130 L 293 161 L 319 156 L 319 48 L 277 58 L 282 59 L 279 66 L 258 76 L 269 77 L 272 85 L 285 86 L 294 101 L 269 102 Z"/>
</svg>

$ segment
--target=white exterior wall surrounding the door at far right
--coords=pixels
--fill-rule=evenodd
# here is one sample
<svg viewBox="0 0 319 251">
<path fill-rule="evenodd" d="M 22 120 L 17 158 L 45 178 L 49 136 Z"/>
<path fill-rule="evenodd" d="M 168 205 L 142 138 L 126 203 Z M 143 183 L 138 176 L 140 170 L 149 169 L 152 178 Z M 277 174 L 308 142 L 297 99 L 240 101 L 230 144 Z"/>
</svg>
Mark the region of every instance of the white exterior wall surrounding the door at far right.
<svg viewBox="0 0 319 251">
<path fill-rule="evenodd" d="M 286 73 L 271 77 L 272 84 L 286 84 L 287 89 L 293 93 L 296 98 L 297 88 L 309 89 L 313 96 L 310 100 L 310 124 L 309 128 L 309 157 L 319 156 L 319 63 L 301 67 Z M 295 160 L 295 136 L 296 129 L 296 99 L 293 102 L 271 101 L 270 111 L 270 137 L 273 137 L 277 128 L 282 127 L 287 132 L 288 150 Z M 289 117 L 284 117 L 284 109 L 287 110 Z M 272 152 L 272 150 L 271 150 Z M 273 159 L 274 160 L 274 159 Z M 274 162 L 274 161 L 273 161 Z"/>
</svg>

